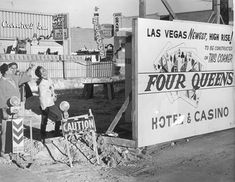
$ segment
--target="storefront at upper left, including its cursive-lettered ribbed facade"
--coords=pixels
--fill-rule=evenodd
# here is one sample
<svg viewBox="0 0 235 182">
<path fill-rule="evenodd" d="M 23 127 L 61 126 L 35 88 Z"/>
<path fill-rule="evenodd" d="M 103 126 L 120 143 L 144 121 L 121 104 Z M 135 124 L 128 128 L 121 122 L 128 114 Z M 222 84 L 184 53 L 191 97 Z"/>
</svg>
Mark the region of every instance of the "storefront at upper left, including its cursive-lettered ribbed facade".
<svg viewBox="0 0 235 182">
<path fill-rule="evenodd" d="M 68 16 L 63 17 L 64 26 L 56 29 L 61 24 L 60 18 L 52 14 L 0 10 L 0 53 L 69 54 Z"/>
</svg>

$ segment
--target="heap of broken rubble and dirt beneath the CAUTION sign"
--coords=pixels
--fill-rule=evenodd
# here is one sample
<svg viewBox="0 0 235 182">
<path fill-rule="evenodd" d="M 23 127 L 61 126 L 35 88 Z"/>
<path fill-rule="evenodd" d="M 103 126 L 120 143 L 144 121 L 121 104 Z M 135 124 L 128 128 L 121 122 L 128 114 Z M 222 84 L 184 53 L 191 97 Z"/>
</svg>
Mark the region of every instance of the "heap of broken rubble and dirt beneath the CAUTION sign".
<svg viewBox="0 0 235 182">
<path fill-rule="evenodd" d="M 48 165 L 53 163 L 63 163 L 69 165 L 66 139 L 56 137 L 47 139 L 43 144 L 41 141 L 24 139 L 24 154 L 9 154 L 12 163 L 20 168 L 30 168 L 37 165 Z M 138 161 L 146 155 L 144 149 L 135 149 L 107 144 L 103 136 L 97 137 L 98 160 L 93 149 L 92 135 L 84 133 L 82 135 L 72 135 L 68 137 L 70 156 L 73 164 L 87 161 L 93 165 L 106 167 L 116 167 L 126 165 L 131 161 Z"/>
</svg>

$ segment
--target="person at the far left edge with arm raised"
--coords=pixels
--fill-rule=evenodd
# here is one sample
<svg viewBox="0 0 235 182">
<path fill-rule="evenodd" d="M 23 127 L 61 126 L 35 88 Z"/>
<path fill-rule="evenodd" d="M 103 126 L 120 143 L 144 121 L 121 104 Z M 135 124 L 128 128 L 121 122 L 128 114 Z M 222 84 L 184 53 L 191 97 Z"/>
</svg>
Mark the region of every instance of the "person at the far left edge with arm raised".
<svg viewBox="0 0 235 182">
<path fill-rule="evenodd" d="M 30 68 L 31 69 L 31 68 Z M 28 82 L 31 76 L 24 74 L 22 77 L 15 77 L 9 68 L 9 65 L 2 64 L 0 66 L 2 77 L 0 78 L 0 124 L 1 124 L 1 155 L 5 153 L 6 145 L 6 126 L 9 119 L 9 100 L 16 96 L 20 98 L 19 85 Z"/>
</svg>

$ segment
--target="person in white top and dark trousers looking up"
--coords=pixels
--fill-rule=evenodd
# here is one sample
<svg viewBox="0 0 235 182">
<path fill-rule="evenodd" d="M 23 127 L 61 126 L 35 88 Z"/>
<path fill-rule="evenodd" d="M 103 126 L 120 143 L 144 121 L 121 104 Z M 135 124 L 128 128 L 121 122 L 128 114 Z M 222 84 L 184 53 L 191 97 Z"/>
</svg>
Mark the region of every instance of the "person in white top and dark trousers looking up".
<svg viewBox="0 0 235 182">
<path fill-rule="evenodd" d="M 48 78 L 48 72 L 42 66 L 38 66 L 35 70 L 35 75 L 39 78 L 37 81 L 40 107 L 42 110 L 41 121 L 41 138 L 44 140 L 46 137 L 46 125 L 48 118 L 55 121 L 55 134 L 60 135 L 60 125 L 62 120 L 62 112 L 55 105 L 57 99 L 54 84 L 50 78 Z"/>
</svg>

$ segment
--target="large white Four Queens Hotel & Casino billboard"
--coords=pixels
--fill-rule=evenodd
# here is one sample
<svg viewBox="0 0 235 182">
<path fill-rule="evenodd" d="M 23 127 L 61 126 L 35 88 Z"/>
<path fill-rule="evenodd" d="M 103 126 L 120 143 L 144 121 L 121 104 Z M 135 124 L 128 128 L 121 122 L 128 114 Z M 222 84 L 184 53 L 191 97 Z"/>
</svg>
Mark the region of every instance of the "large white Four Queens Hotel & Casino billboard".
<svg viewBox="0 0 235 182">
<path fill-rule="evenodd" d="M 235 127 L 232 27 L 137 19 L 138 147 Z"/>
</svg>

